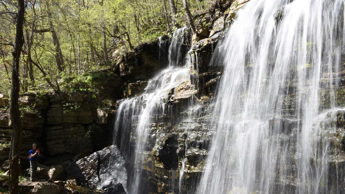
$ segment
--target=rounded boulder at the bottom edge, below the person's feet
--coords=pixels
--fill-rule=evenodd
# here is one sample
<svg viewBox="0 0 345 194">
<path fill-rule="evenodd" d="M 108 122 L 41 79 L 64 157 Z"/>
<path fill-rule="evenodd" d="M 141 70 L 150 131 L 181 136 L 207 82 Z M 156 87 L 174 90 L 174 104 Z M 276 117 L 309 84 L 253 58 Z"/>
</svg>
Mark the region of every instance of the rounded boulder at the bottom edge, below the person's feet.
<svg viewBox="0 0 345 194">
<path fill-rule="evenodd" d="M 68 193 L 63 187 L 49 182 L 39 182 L 37 183 L 29 192 L 29 194 L 63 194 Z"/>
</svg>

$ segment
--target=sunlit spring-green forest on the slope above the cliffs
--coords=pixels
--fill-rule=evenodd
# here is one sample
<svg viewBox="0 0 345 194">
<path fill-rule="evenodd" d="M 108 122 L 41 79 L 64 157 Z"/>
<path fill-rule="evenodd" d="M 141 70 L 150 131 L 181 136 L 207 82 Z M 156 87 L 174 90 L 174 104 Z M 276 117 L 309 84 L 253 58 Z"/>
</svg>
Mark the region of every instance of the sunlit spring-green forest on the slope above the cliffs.
<svg viewBox="0 0 345 194">
<path fill-rule="evenodd" d="M 116 64 L 112 54 L 189 26 L 211 0 L 25 0 L 20 93 L 60 89 L 63 80 L 91 82 L 88 72 Z M 10 95 L 17 1 L 0 0 L 0 94 Z M 199 21 L 199 26 L 209 23 Z M 63 86 L 62 86 L 63 87 Z M 70 88 L 69 88 L 70 89 Z M 86 88 L 77 88 L 77 90 Z M 92 89 L 92 88 L 90 88 Z"/>
</svg>

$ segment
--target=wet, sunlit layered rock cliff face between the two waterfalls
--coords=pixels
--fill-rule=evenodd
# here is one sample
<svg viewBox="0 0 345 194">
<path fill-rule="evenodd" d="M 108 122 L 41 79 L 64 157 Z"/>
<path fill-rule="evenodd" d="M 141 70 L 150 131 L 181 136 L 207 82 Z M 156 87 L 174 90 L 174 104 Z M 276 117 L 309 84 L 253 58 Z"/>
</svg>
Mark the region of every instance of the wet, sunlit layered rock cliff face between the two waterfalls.
<svg viewBox="0 0 345 194">
<path fill-rule="evenodd" d="M 190 69 L 189 79 L 166 91 L 165 100 L 161 102 L 166 111 L 163 113 L 157 111 L 157 115 L 150 116 L 145 152 L 139 156 L 143 157 L 140 161 L 142 166 L 136 169 L 142 170 L 142 173 L 138 181 L 130 177 L 129 173 L 127 182 L 127 184 L 139 184 L 138 193 L 193 193 L 195 191 L 200 174 L 204 171 L 205 158 L 208 155 L 207 148 L 214 133 L 213 130 L 206 130 L 205 126 L 210 122 L 211 101 L 214 99 L 215 88 L 222 75 L 220 67 L 208 64 L 215 60 L 212 54 L 217 42 L 223 37 L 225 18 L 224 14 L 218 13 L 213 28 L 200 30 L 198 37 L 194 37 L 193 46 L 184 47 L 181 51 L 181 53 L 185 52 L 186 56 L 180 64 L 181 66 L 189 64 L 187 65 Z M 184 36 L 186 40 L 191 40 L 188 33 Z M 159 46 L 159 42 L 156 44 Z M 167 55 L 169 53 L 160 51 L 159 56 Z M 126 65 L 124 63 L 122 66 Z M 121 77 L 127 78 L 130 75 L 131 73 L 126 68 L 120 68 Z M 145 79 L 136 77 L 132 80 L 135 82 L 128 84 L 127 97 L 144 94 L 150 79 L 153 79 L 153 76 Z M 145 99 L 143 101 L 143 104 L 140 102 L 127 111 L 140 113 L 141 106 L 148 106 L 145 104 Z M 136 114 L 133 117 L 140 117 L 140 115 Z M 121 117 L 117 122 L 136 120 L 128 119 Z M 140 119 L 135 121 L 130 128 L 121 129 L 120 127 L 115 130 L 117 134 L 114 134 L 121 137 L 114 143 L 124 155 L 129 171 L 135 168 L 135 164 L 130 161 L 133 159 L 137 145 L 140 144 L 137 139 L 142 138 L 135 131 L 139 122 Z"/>
</svg>

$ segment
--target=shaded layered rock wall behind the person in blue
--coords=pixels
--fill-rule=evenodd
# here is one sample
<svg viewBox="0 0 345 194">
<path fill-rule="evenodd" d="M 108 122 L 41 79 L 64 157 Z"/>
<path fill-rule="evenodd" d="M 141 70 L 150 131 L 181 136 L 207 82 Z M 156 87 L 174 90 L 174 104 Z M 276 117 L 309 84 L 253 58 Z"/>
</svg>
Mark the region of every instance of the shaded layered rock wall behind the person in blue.
<svg viewBox="0 0 345 194">
<path fill-rule="evenodd" d="M 109 145 L 111 129 L 111 104 L 102 106 L 102 98 L 109 101 L 121 97 L 123 86 L 119 77 L 113 77 L 108 90 L 99 98 L 82 93 L 48 93 L 45 95 L 26 93 L 20 96 L 22 112 L 21 164 L 28 165 L 28 151 L 37 143 L 42 157 L 40 163 L 58 164 L 72 159 L 77 154 L 97 151 Z M 109 108 L 110 107 L 110 108 Z M 109 119 L 108 119 L 109 117 Z M 0 162 L 8 159 L 12 135 L 8 112 L 0 116 L 2 149 Z"/>
</svg>

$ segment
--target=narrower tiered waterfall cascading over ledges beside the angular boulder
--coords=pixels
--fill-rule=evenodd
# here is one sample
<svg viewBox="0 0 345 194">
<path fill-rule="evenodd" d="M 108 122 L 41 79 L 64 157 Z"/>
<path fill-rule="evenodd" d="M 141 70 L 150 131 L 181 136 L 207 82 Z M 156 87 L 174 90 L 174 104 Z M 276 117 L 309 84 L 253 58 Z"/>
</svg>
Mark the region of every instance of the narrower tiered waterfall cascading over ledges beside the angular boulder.
<svg viewBox="0 0 345 194">
<path fill-rule="evenodd" d="M 189 67 L 179 65 L 184 29 L 178 29 L 172 36 L 168 68 L 148 81 L 144 94 L 120 100 L 113 144 L 119 146 L 129 163 L 126 188 L 129 194 L 145 193 L 147 185 L 142 185 L 141 179 L 144 176 L 143 168 L 148 163 L 147 154 L 152 150 L 149 142 L 150 128 L 164 125 L 160 116 L 165 114 L 170 89 L 189 79 Z M 148 168 L 153 169 L 154 166 Z M 172 176 L 175 177 L 175 173 L 176 171 L 172 171 Z"/>
</svg>

